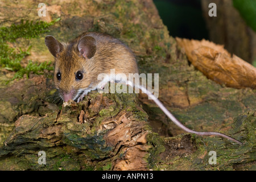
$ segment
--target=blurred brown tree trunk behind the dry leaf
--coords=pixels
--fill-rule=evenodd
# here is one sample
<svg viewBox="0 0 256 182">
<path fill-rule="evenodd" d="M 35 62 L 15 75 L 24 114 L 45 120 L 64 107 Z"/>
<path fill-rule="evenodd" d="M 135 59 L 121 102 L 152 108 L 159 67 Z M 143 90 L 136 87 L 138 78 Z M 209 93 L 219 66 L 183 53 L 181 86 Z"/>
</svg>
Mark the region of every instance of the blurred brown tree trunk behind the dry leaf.
<svg viewBox="0 0 256 182">
<path fill-rule="evenodd" d="M 216 3 L 217 16 L 210 17 L 208 7 Z M 233 0 L 201 0 L 203 15 L 208 26 L 209 39 L 222 44 L 230 52 L 248 63 L 256 60 L 256 33 L 245 23 L 238 10 L 233 6 Z"/>
</svg>

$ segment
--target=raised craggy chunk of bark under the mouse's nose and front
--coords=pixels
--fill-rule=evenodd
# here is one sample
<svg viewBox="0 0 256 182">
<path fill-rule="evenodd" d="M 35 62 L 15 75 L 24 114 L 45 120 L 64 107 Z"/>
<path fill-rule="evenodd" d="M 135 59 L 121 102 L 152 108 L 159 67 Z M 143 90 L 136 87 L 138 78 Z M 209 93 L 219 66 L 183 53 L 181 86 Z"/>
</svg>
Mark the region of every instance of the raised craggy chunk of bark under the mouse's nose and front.
<svg viewBox="0 0 256 182">
<path fill-rule="evenodd" d="M 95 92 L 44 117 L 22 115 L 1 148 L 1 169 L 146 169 L 150 127 L 135 98 Z"/>
</svg>

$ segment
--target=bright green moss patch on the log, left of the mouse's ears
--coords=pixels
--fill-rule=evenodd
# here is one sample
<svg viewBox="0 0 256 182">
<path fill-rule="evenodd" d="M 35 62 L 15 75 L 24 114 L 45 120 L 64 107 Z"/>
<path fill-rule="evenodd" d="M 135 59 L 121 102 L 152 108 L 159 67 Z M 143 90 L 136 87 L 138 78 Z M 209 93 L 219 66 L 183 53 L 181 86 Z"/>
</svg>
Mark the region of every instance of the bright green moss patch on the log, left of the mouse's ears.
<svg viewBox="0 0 256 182">
<path fill-rule="evenodd" d="M 10 27 L 0 27 L 0 67 L 8 69 L 10 71 L 14 71 L 15 78 L 22 78 L 23 75 L 28 77 L 30 72 L 35 74 L 42 74 L 44 69 L 53 70 L 51 66 L 51 62 L 43 62 L 43 63 L 33 63 L 31 60 L 28 61 L 26 67 L 22 67 L 20 61 L 27 56 L 30 55 L 31 46 L 28 47 L 26 51 L 22 51 L 15 48 L 11 48 L 8 44 L 15 43 L 16 39 L 24 38 L 39 38 L 40 34 L 44 32 L 48 32 L 48 27 L 52 26 L 55 22 L 60 19 L 53 20 L 52 22 L 43 22 L 43 21 L 26 21 L 21 20 L 18 24 L 11 24 Z"/>
</svg>

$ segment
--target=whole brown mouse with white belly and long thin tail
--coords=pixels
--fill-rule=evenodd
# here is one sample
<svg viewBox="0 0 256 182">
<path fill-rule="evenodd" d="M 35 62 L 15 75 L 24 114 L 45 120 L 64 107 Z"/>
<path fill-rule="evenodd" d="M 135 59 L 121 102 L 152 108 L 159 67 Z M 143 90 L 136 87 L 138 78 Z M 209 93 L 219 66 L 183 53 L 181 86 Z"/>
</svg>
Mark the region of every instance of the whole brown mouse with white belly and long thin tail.
<svg viewBox="0 0 256 182">
<path fill-rule="evenodd" d="M 218 136 L 242 144 L 228 135 L 212 131 L 194 131 L 184 126 L 145 86 L 127 81 L 116 75 L 129 77 L 129 73 L 138 74 L 136 57 L 131 49 L 121 40 L 101 32 L 84 32 L 70 42 L 59 42 L 52 35 L 47 35 L 45 44 L 55 59 L 53 82 L 64 102 L 80 102 L 92 90 L 102 90 L 108 82 L 126 84 L 140 89 L 160 107 L 164 114 L 177 126 L 188 133 L 201 136 Z M 98 75 L 104 78 L 98 80 Z"/>
</svg>

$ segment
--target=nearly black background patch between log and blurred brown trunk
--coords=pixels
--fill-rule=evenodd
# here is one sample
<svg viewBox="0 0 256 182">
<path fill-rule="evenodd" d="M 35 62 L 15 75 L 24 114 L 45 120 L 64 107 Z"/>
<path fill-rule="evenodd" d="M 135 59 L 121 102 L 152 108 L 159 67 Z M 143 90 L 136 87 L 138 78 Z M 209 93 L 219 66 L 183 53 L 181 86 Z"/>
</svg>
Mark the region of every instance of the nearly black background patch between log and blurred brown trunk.
<svg viewBox="0 0 256 182">
<path fill-rule="evenodd" d="M 208 39 L 200 0 L 154 0 L 154 3 L 171 36 Z"/>
</svg>

